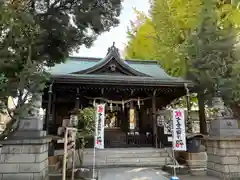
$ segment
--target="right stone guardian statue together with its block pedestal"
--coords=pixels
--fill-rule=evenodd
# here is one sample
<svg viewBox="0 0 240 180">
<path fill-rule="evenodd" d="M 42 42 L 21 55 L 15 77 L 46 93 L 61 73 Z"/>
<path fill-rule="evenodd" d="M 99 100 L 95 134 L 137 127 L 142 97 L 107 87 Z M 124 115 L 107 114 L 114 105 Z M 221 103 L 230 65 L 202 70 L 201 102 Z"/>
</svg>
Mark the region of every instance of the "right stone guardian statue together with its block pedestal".
<svg viewBox="0 0 240 180">
<path fill-rule="evenodd" d="M 224 180 L 240 177 L 240 130 L 237 120 L 224 107 L 220 97 L 214 98 L 218 109 L 210 122 L 207 142 L 207 174 Z"/>
</svg>

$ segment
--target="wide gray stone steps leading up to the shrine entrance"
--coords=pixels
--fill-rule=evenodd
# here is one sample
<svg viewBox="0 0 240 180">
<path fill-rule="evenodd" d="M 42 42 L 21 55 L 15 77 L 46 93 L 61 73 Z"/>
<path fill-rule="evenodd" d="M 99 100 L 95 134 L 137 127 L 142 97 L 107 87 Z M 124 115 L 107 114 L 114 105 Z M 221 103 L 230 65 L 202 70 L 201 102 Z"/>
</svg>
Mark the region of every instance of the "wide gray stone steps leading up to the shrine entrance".
<svg viewBox="0 0 240 180">
<path fill-rule="evenodd" d="M 93 149 L 84 152 L 83 166 L 93 164 Z M 166 149 L 111 148 L 96 150 L 97 167 L 163 167 L 171 163 Z"/>
</svg>

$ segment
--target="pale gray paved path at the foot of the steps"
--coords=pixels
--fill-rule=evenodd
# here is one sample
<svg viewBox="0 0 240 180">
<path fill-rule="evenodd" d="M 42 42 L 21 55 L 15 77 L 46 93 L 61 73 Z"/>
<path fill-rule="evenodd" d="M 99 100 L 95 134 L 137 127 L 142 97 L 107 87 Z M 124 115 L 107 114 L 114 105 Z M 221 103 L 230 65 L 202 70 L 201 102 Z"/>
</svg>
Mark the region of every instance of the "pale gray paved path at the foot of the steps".
<svg viewBox="0 0 240 180">
<path fill-rule="evenodd" d="M 100 170 L 100 180 L 168 180 L 162 170 L 153 168 L 108 168 Z"/>
</svg>

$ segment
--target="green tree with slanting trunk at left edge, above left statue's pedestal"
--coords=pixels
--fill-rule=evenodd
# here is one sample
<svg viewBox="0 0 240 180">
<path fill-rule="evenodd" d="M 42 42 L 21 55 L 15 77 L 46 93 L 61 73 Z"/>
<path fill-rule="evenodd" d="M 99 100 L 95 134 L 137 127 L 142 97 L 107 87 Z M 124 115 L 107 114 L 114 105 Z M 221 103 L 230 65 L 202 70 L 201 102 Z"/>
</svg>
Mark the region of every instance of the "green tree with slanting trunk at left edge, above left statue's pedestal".
<svg viewBox="0 0 240 180">
<path fill-rule="evenodd" d="M 1 41 L 0 41 L 0 71 L 2 81 L 0 98 L 2 110 L 7 110 L 11 121 L 1 134 L 1 139 L 18 128 L 20 118 L 27 113 L 35 92 L 45 87 L 46 73 L 44 63 L 35 59 L 34 46 L 39 36 L 39 27 L 33 19 L 24 12 L 24 4 L 0 6 Z M 14 110 L 8 108 L 9 96 L 17 99 Z"/>
</svg>

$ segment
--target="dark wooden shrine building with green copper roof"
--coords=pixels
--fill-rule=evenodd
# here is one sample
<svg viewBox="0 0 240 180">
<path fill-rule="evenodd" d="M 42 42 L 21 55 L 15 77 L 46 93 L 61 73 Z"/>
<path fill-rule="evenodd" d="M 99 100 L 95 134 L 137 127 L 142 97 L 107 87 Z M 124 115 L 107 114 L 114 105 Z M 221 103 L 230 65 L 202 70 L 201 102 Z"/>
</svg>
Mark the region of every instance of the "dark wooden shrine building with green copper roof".
<svg viewBox="0 0 240 180">
<path fill-rule="evenodd" d="M 50 69 L 43 95 L 45 127 L 57 135 L 73 109 L 105 103 L 106 148 L 171 146 L 158 113 L 193 83 L 169 76 L 157 61 L 124 60 L 112 46 L 104 58 L 69 57 Z M 88 147 L 93 147 L 93 138 Z"/>
</svg>

